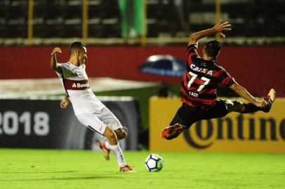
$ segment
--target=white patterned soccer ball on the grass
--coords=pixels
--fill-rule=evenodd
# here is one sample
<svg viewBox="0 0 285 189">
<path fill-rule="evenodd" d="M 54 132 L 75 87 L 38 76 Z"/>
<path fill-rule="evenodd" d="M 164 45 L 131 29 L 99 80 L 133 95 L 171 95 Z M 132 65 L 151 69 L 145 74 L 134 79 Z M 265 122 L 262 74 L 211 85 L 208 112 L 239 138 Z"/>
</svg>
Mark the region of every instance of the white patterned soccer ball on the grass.
<svg viewBox="0 0 285 189">
<path fill-rule="evenodd" d="M 145 159 L 145 167 L 149 172 L 159 172 L 164 167 L 164 159 L 160 155 L 152 153 Z"/>
</svg>

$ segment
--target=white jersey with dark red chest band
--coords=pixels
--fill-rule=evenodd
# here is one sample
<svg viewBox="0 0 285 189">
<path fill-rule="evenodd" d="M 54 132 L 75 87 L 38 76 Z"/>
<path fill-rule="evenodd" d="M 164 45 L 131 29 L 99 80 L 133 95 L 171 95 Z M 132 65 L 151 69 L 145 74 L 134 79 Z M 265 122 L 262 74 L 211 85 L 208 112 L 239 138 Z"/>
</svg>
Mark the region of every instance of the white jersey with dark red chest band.
<svg viewBox="0 0 285 189">
<path fill-rule="evenodd" d="M 93 94 L 86 74 L 85 64 L 74 66 L 69 62 L 60 64 L 62 73 L 58 73 L 60 82 L 65 88 L 67 97 L 72 103 L 76 116 L 95 113 L 102 110 L 105 105 Z"/>
</svg>

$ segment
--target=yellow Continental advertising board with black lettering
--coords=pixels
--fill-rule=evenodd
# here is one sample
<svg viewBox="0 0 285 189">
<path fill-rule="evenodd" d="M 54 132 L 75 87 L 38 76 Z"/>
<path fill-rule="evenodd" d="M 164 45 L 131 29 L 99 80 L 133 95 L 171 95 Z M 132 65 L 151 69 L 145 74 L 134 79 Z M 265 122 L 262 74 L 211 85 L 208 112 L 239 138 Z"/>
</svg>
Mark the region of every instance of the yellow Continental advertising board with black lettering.
<svg viewBox="0 0 285 189">
<path fill-rule="evenodd" d="M 230 113 L 194 123 L 176 139 L 162 139 L 181 104 L 180 99 L 150 99 L 150 151 L 285 153 L 285 99 L 275 99 L 270 113 Z"/>
</svg>

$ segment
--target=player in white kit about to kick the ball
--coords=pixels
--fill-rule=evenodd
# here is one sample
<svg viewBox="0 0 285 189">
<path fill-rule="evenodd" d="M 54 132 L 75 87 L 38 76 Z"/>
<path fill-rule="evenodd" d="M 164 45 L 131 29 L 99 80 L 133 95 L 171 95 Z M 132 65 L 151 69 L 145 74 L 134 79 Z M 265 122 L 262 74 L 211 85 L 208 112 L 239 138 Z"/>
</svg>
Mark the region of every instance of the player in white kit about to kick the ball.
<svg viewBox="0 0 285 189">
<path fill-rule="evenodd" d="M 81 42 L 72 43 L 69 46 L 70 57 L 67 63 L 57 63 L 57 53 L 61 53 L 58 47 L 51 52 L 51 69 L 58 74 L 66 92 L 65 98 L 60 102 L 60 107 L 65 109 L 71 102 L 79 122 L 107 138 L 106 142 L 99 144 L 105 153 L 105 159 L 110 160 L 110 151 L 113 151 L 120 172 L 134 172 L 126 164 L 118 142 L 126 137 L 126 132 L 116 116 L 93 94 L 88 84 L 85 71 L 86 46 Z"/>
</svg>

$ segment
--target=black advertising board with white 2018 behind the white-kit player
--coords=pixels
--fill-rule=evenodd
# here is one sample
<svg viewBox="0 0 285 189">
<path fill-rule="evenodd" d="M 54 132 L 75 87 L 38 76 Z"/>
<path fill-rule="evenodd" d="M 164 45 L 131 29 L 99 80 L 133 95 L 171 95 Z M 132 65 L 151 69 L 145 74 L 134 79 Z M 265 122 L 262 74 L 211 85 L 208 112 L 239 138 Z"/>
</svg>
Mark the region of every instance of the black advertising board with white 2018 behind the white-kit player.
<svg viewBox="0 0 285 189">
<path fill-rule="evenodd" d="M 138 148 L 139 104 L 132 98 L 102 102 L 128 128 L 120 142 L 125 150 Z M 72 106 L 60 109 L 59 100 L 0 99 L 0 148 L 59 148 L 97 150 L 104 140 L 81 125 Z"/>
</svg>

